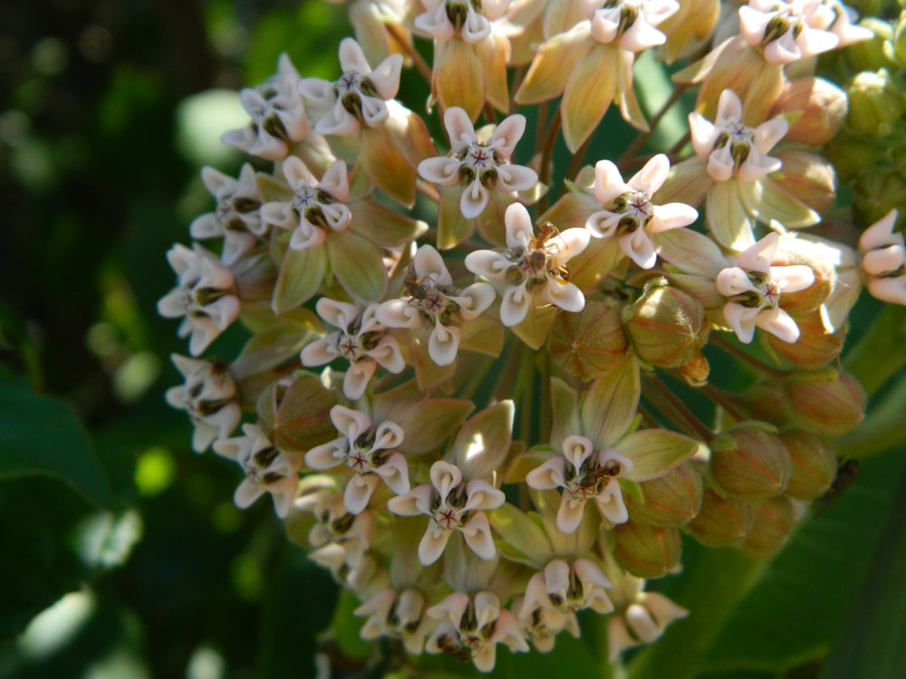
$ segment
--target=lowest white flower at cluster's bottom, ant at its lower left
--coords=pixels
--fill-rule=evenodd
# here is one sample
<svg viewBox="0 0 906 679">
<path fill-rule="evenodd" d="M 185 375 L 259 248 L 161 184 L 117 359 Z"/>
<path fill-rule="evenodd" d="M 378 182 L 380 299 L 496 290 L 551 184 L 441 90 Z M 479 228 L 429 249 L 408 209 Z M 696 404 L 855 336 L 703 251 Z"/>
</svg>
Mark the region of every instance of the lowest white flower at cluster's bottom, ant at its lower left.
<svg viewBox="0 0 906 679">
<path fill-rule="evenodd" d="M 430 607 L 428 615 L 440 624 L 425 650 L 471 660 L 481 672 L 494 669 L 497 644 L 505 644 L 511 651 L 528 651 L 516 618 L 500 608 L 500 599 L 493 592 L 453 592 Z"/>
</svg>

